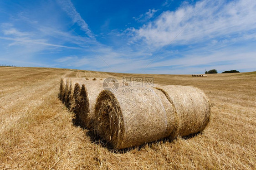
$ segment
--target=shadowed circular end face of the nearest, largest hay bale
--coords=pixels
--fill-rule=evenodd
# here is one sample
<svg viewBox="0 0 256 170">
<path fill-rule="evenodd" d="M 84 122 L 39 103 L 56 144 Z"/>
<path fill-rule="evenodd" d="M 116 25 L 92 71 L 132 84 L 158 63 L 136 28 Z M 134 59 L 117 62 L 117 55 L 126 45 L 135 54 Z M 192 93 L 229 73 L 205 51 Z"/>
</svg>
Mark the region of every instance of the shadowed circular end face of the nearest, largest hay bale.
<svg viewBox="0 0 256 170">
<path fill-rule="evenodd" d="M 122 147 L 124 121 L 117 98 L 108 90 L 103 90 L 97 97 L 94 122 L 97 133 L 113 148 Z"/>
</svg>

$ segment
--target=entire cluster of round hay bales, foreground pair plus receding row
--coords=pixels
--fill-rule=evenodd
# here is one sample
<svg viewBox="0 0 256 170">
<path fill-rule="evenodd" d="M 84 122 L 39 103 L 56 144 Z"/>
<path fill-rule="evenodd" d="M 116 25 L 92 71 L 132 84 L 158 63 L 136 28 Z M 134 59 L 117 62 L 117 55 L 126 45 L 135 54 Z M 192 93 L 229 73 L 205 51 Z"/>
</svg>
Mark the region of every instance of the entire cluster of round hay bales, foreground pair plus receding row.
<svg viewBox="0 0 256 170">
<path fill-rule="evenodd" d="M 137 93 L 125 93 L 124 88 L 113 93 L 100 81 L 62 78 L 59 96 L 82 126 L 115 149 L 187 136 L 203 131 L 209 122 L 210 104 L 196 87 L 136 87 Z"/>
</svg>

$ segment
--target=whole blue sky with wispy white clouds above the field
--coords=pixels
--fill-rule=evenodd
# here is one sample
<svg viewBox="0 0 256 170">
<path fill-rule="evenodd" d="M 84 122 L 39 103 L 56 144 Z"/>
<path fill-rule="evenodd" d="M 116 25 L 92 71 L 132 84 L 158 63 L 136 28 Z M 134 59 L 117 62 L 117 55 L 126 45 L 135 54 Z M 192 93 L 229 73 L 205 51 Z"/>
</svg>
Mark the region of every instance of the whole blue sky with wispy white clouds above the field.
<svg viewBox="0 0 256 170">
<path fill-rule="evenodd" d="M 255 0 L 0 0 L 0 64 L 255 71 L 255 19 Z"/>
</svg>

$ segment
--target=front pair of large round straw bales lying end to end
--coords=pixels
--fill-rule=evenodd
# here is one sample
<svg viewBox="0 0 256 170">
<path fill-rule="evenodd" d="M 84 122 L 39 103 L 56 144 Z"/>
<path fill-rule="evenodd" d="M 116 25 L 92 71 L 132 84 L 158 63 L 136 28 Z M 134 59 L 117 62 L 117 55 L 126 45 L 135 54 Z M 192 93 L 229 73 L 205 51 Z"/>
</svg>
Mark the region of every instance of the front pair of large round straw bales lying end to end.
<svg viewBox="0 0 256 170">
<path fill-rule="evenodd" d="M 198 88 L 140 87 L 136 93 L 124 93 L 123 88 L 102 91 L 95 106 L 97 133 L 115 149 L 193 134 L 209 122 L 210 105 Z"/>
</svg>

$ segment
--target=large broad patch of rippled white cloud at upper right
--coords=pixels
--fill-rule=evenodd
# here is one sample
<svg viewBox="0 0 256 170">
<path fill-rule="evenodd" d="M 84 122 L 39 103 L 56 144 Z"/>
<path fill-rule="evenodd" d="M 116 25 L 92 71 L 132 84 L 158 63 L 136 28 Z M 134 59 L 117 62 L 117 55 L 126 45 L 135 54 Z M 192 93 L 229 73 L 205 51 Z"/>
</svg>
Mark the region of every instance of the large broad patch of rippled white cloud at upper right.
<svg viewBox="0 0 256 170">
<path fill-rule="evenodd" d="M 132 40 L 143 40 L 148 45 L 162 47 L 174 39 L 174 44 L 193 44 L 218 37 L 228 38 L 233 34 L 255 31 L 255 18 L 255 0 L 226 3 L 222 0 L 202 0 L 195 5 L 182 5 L 175 11 L 164 11 L 154 21 L 132 29 L 135 34 Z"/>
</svg>

